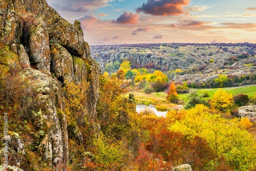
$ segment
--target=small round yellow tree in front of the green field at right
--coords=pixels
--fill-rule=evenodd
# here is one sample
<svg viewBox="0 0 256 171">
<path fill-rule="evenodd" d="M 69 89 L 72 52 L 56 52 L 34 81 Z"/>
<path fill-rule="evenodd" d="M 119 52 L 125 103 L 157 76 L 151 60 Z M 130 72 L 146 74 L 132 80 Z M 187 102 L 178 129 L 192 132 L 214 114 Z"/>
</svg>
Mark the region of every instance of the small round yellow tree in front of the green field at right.
<svg viewBox="0 0 256 171">
<path fill-rule="evenodd" d="M 211 106 L 223 113 L 230 112 L 233 105 L 233 95 L 219 89 L 212 96 Z"/>
</svg>

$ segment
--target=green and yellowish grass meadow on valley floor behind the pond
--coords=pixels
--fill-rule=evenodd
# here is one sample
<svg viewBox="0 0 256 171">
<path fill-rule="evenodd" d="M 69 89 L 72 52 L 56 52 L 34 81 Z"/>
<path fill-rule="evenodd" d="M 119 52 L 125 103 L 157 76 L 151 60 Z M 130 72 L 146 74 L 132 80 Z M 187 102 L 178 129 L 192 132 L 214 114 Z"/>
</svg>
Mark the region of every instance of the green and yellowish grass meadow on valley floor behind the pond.
<svg viewBox="0 0 256 171">
<path fill-rule="evenodd" d="M 249 97 L 255 97 L 256 94 L 256 85 L 251 85 L 251 86 L 243 86 L 243 87 L 232 87 L 232 88 L 222 88 L 223 90 L 227 91 L 228 93 L 231 93 L 233 96 L 236 96 L 240 93 L 242 94 L 247 94 Z M 208 92 L 209 97 L 206 97 L 204 99 L 211 99 L 212 95 L 218 89 L 199 89 L 197 90 L 199 94 L 202 94 L 203 92 Z M 135 100 L 137 103 L 143 103 L 143 104 L 163 104 L 167 103 L 166 101 L 166 96 L 167 94 L 165 92 L 158 92 L 158 93 L 151 93 L 151 94 L 145 94 L 143 90 L 134 90 L 131 91 L 135 95 Z M 187 101 L 188 94 L 179 94 L 179 98 Z"/>
</svg>

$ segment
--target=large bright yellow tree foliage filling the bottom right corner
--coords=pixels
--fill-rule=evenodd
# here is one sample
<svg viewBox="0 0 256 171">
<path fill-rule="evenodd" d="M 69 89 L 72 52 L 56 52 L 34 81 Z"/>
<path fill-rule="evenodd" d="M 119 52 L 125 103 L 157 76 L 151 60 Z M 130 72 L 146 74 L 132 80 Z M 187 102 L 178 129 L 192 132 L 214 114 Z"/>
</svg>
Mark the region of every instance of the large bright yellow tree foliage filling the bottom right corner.
<svg viewBox="0 0 256 171">
<path fill-rule="evenodd" d="M 218 158 L 223 156 L 226 165 L 236 170 L 255 168 L 255 141 L 246 130 L 240 129 L 237 120 L 225 119 L 219 114 L 212 115 L 202 104 L 182 116 L 181 120 L 169 124 L 170 130 L 183 133 L 189 139 L 197 136 L 204 138 Z"/>
</svg>

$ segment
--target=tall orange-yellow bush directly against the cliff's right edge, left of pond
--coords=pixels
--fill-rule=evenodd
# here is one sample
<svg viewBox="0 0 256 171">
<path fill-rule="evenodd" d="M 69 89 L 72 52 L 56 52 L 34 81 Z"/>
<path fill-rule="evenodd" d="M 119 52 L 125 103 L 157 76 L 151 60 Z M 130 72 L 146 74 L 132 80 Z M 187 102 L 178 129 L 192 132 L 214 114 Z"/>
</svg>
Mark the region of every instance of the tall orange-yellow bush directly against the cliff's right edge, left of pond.
<svg viewBox="0 0 256 171">
<path fill-rule="evenodd" d="M 129 129 L 130 114 L 135 104 L 122 96 L 127 93 L 128 82 L 107 74 L 100 76 L 99 100 L 96 105 L 97 117 L 104 135 L 121 138 Z"/>
</svg>

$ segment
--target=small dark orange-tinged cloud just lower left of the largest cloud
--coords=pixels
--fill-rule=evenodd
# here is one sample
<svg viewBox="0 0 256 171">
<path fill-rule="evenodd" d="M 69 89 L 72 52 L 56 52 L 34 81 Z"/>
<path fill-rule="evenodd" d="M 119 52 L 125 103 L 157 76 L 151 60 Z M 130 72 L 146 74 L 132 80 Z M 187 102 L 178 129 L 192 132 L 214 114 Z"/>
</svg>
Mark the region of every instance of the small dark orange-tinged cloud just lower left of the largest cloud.
<svg viewBox="0 0 256 171">
<path fill-rule="evenodd" d="M 139 22 L 139 14 L 134 14 L 132 12 L 124 12 L 116 20 L 113 20 L 112 23 L 117 24 L 137 24 Z"/>
</svg>

